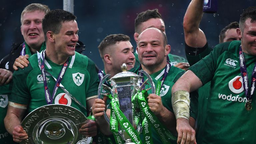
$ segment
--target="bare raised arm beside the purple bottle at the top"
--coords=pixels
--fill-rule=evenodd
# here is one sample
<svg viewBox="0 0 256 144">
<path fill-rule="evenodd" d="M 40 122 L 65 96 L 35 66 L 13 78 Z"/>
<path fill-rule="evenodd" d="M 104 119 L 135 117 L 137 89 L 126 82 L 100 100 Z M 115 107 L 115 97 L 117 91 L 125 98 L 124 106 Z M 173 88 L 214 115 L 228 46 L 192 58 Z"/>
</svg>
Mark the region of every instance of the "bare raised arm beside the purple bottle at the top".
<svg viewBox="0 0 256 144">
<path fill-rule="evenodd" d="M 199 28 L 203 16 L 203 0 L 191 0 L 184 15 L 185 42 L 190 47 L 202 48 L 206 44 L 204 32 Z"/>
</svg>

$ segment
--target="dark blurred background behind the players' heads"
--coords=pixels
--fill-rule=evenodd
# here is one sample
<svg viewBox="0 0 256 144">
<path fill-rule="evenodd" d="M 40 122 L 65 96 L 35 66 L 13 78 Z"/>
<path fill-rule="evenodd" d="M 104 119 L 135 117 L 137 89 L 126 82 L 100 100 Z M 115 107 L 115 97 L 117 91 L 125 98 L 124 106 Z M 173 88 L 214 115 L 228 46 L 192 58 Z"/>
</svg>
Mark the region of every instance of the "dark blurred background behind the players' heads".
<svg viewBox="0 0 256 144">
<path fill-rule="evenodd" d="M 0 59 L 10 52 L 11 44 L 23 42 L 20 32 L 20 15 L 31 3 L 48 5 L 51 10 L 63 9 L 62 0 L 2 0 L 0 6 Z M 158 8 L 165 22 L 171 53 L 185 57 L 183 17 L 190 0 L 74 0 L 74 14 L 77 16 L 79 40 L 86 45 L 83 52 L 91 58 L 100 69 L 104 68 L 98 45 L 110 34 L 130 36 L 133 38 L 134 19 L 137 14 Z M 239 21 L 242 11 L 256 6 L 255 0 L 219 0 L 218 12 L 205 13 L 200 23 L 211 47 L 219 43 L 219 33 L 230 22 Z"/>
</svg>

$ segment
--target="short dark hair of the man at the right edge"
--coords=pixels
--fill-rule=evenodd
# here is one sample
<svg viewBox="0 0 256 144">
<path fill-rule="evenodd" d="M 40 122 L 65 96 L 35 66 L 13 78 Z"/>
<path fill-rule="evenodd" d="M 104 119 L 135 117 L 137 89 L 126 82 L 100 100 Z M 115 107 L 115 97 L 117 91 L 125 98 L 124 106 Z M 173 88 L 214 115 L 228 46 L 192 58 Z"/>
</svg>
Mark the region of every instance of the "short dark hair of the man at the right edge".
<svg viewBox="0 0 256 144">
<path fill-rule="evenodd" d="M 244 31 L 244 23 L 248 18 L 251 18 L 251 23 L 253 23 L 254 20 L 256 20 L 256 7 L 248 7 L 241 14 L 239 20 L 239 28 L 241 29 L 242 32 Z"/>
</svg>

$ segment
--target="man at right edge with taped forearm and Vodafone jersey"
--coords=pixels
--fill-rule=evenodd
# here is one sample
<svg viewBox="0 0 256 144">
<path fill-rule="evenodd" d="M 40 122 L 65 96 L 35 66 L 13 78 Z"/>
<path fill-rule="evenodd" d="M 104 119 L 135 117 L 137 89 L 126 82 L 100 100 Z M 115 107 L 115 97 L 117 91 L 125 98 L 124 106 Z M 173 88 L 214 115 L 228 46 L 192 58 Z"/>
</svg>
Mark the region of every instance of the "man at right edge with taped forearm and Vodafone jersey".
<svg viewBox="0 0 256 144">
<path fill-rule="evenodd" d="M 243 11 L 236 32 L 241 41 L 216 45 L 172 87 L 177 143 L 194 143 L 191 138 L 194 139 L 195 131 L 188 124 L 189 92 L 209 81 L 211 89 L 207 117 L 205 128 L 200 132 L 203 136 L 198 137 L 200 142 L 256 143 L 256 7 Z"/>
</svg>

